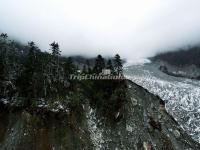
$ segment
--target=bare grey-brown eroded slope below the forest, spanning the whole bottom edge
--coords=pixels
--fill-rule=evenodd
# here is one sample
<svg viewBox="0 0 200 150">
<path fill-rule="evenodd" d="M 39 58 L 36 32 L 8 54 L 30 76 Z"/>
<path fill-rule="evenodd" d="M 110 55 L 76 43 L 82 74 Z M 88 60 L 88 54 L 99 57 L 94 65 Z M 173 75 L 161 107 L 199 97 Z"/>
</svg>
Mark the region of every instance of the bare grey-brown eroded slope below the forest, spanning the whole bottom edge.
<svg viewBox="0 0 200 150">
<path fill-rule="evenodd" d="M 54 119 L 50 115 L 50 118 L 45 119 L 44 116 L 39 117 L 24 111 L 1 112 L 0 119 L 4 121 L 0 122 L 0 149 L 16 149 L 21 146 L 21 149 L 30 150 L 200 149 L 200 145 L 168 115 L 160 98 L 131 81 L 127 81 L 127 84 L 130 98 L 123 107 L 124 117 L 117 122 L 101 119 L 88 103 L 84 105 L 85 119 L 82 122 L 73 116 L 73 122 L 77 122 L 75 128 L 67 123 L 69 120 L 66 117 Z M 116 117 L 120 112 L 122 111 L 116 113 Z M 37 123 L 32 124 L 30 120 L 37 120 Z M 48 121 L 45 123 L 45 120 Z"/>
</svg>

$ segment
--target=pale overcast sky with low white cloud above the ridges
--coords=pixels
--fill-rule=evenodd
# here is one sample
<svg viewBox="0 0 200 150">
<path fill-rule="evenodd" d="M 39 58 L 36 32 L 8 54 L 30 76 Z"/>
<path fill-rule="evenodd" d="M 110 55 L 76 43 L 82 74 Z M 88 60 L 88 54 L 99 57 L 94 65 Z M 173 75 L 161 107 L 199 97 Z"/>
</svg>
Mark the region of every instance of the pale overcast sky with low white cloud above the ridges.
<svg viewBox="0 0 200 150">
<path fill-rule="evenodd" d="M 0 0 L 0 32 L 64 55 L 128 59 L 200 42 L 200 0 Z"/>
</svg>

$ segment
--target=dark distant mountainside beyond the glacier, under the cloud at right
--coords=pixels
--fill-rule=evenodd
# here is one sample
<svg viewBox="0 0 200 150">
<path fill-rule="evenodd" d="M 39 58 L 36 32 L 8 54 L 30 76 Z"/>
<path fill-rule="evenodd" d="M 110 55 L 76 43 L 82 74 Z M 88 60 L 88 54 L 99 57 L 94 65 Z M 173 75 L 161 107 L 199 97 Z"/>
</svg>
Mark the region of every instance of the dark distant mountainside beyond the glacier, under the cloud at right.
<svg viewBox="0 0 200 150">
<path fill-rule="evenodd" d="M 189 79 L 200 79 L 200 47 L 166 52 L 156 55 L 151 60 L 160 65 L 164 73 Z"/>
</svg>

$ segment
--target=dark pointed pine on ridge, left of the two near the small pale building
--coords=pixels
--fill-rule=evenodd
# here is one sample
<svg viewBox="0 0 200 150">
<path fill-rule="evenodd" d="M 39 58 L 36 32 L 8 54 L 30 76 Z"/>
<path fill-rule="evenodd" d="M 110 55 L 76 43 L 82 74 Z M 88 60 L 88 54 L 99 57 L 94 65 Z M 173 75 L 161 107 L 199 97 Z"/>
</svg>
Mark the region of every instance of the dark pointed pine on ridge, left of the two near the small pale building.
<svg viewBox="0 0 200 150">
<path fill-rule="evenodd" d="M 95 66 L 94 66 L 94 73 L 101 73 L 102 69 L 105 68 L 105 61 L 104 58 L 101 55 L 98 55 L 95 61 Z"/>
</svg>

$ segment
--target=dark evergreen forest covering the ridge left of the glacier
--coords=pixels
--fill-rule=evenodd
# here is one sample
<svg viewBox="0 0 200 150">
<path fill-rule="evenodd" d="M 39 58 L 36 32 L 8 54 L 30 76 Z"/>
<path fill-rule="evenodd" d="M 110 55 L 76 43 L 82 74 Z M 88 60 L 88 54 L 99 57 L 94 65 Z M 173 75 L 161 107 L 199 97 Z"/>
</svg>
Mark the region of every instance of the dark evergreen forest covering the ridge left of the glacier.
<svg viewBox="0 0 200 150">
<path fill-rule="evenodd" d="M 34 42 L 27 45 L 0 36 L 0 101 L 4 104 L 81 114 L 85 99 L 99 113 L 115 120 L 115 113 L 126 101 L 126 83 L 121 80 L 71 80 L 70 75 L 100 74 L 109 69 L 110 75 L 123 76 L 118 54 L 109 60 L 101 55 L 94 65 L 85 59 L 82 68 L 73 57 L 61 56 L 59 44 L 50 44 L 50 53 L 41 51 Z"/>
</svg>

